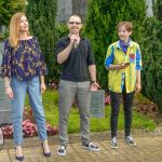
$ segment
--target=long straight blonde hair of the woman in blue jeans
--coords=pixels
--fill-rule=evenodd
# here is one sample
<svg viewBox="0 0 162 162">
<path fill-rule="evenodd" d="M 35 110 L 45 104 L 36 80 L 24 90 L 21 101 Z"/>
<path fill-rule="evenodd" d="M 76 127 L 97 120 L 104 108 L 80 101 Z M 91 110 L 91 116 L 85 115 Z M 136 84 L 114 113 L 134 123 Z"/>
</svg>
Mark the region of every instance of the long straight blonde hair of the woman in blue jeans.
<svg viewBox="0 0 162 162">
<path fill-rule="evenodd" d="M 26 16 L 25 13 L 16 13 L 11 17 L 10 21 L 9 42 L 12 48 L 16 48 L 18 45 L 19 24 L 22 16 Z M 29 31 L 27 35 L 30 36 Z"/>
</svg>

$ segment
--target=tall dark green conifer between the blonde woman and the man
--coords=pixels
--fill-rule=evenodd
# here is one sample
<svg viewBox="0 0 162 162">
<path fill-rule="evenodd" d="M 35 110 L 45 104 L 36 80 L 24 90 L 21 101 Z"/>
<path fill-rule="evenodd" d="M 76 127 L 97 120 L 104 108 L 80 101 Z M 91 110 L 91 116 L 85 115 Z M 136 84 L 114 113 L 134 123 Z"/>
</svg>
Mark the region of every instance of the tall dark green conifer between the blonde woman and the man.
<svg viewBox="0 0 162 162">
<path fill-rule="evenodd" d="M 54 56 L 54 46 L 56 42 L 55 18 L 57 12 L 56 0 L 28 0 L 26 13 L 29 19 L 30 31 L 38 37 L 42 54 L 48 65 L 49 73 L 45 77 L 55 80 L 57 72 L 57 63 Z"/>
</svg>

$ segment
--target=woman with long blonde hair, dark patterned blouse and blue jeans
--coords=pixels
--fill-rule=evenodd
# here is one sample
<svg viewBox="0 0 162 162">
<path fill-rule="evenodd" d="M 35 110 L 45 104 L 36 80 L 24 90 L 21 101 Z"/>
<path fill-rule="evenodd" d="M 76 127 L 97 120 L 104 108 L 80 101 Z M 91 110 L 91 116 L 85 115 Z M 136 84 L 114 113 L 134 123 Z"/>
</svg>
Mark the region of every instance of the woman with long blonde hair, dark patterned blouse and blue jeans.
<svg viewBox="0 0 162 162">
<path fill-rule="evenodd" d="M 36 38 L 29 35 L 28 21 L 24 13 L 16 13 L 10 22 L 10 36 L 4 42 L 2 73 L 5 93 L 12 100 L 13 136 L 15 157 L 23 161 L 23 110 L 26 93 L 36 118 L 43 154 L 50 157 L 44 110 L 41 93 L 45 91 L 46 66 Z"/>
</svg>

